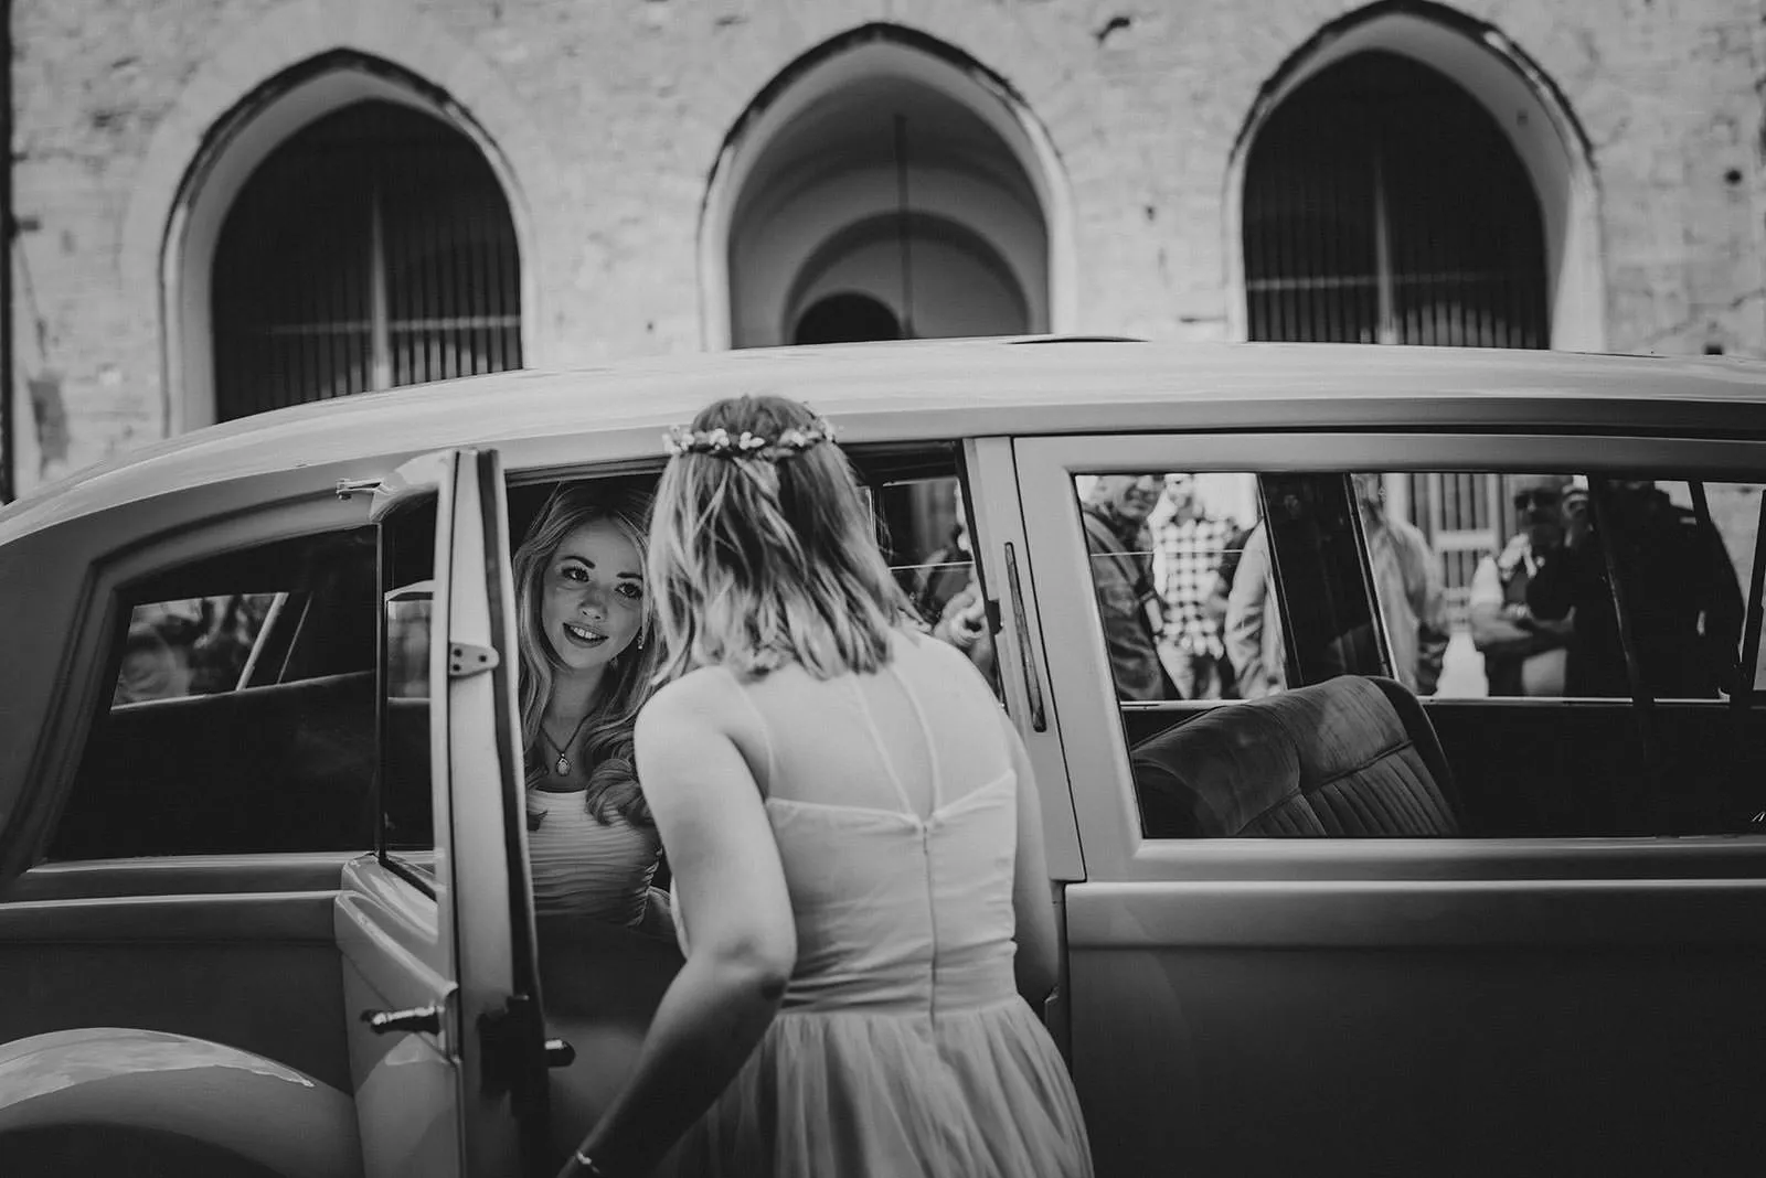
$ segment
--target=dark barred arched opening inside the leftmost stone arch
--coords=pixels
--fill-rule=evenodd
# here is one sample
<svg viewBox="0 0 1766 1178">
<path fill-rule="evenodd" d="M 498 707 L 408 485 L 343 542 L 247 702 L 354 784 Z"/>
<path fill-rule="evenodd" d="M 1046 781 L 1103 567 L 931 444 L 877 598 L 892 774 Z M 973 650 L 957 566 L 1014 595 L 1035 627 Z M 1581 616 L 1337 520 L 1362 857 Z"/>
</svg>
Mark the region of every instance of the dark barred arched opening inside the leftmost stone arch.
<svg viewBox="0 0 1766 1178">
<path fill-rule="evenodd" d="M 253 173 L 215 249 L 219 420 L 521 367 L 502 185 L 436 118 L 360 102 Z"/>
</svg>

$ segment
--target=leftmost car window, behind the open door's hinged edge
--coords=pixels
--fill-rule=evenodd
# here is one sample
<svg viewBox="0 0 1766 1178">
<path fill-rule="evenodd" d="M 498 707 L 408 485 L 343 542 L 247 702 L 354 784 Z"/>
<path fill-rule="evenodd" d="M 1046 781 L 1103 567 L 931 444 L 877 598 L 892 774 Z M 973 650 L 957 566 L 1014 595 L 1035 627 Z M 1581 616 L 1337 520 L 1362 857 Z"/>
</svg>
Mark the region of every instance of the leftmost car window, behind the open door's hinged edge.
<svg viewBox="0 0 1766 1178">
<path fill-rule="evenodd" d="M 373 585 L 371 529 L 127 585 L 48 857 L 366 848 Z"/>
</svg>

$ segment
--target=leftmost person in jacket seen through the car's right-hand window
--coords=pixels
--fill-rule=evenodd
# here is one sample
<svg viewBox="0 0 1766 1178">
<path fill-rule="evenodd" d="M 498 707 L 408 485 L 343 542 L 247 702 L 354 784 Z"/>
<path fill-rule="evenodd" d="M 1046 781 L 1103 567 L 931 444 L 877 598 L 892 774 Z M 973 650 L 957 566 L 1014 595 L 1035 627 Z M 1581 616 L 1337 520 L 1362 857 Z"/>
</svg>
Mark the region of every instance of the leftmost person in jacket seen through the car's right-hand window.
<svg viewBox="0 0 1766 1178">
<path fill-rule="evenodd" d="M 1160 494 L 1157 474 L 1100 474 L 1079 511 L 1111 675 L 1123 700 L 1183 698 L 1158 656 L 1164 607 L 1153 589 L 1146 517 Z"/>
</svg>

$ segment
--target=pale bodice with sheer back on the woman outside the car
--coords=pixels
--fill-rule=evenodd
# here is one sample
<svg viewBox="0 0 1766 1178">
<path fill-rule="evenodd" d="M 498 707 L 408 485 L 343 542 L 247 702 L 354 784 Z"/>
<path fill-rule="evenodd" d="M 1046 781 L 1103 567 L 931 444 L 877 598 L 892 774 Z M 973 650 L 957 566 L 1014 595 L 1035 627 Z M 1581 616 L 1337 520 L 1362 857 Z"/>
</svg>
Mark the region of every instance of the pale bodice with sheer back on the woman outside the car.
<svg viewBox="0 0 1766 1178">
<path fill-rule="evenodd" d="M 901 635 L 878 674 L 736 686 L 765 734 L 758 776 L 796 924 L 782 1010 L 1010 1000 L 1017 776 L 968 661 Z"/>
</svg>

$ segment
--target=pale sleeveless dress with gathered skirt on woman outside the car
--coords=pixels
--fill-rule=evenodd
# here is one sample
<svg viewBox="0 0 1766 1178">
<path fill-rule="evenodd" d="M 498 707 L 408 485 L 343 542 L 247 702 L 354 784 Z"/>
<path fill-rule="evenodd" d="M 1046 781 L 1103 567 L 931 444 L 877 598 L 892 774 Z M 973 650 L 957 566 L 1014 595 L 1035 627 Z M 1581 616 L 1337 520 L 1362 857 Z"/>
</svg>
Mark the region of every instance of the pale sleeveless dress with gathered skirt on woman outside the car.
<svg viewBox="0 0 1766 1178">
<path fill-rule="evenodd" d="M 872 675 L 736 681 L 766 734 L 798 959 L 659 1174 L 1091 1173 L 1067 1065 L 1012 973 L 1017 779 L 998 704 L 941 642 L 895 651 Z"/>
</svg>

